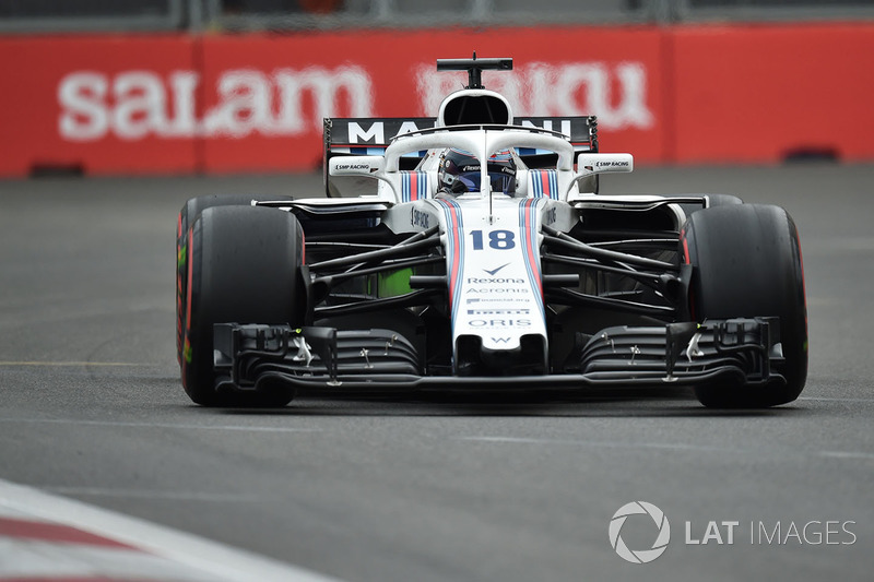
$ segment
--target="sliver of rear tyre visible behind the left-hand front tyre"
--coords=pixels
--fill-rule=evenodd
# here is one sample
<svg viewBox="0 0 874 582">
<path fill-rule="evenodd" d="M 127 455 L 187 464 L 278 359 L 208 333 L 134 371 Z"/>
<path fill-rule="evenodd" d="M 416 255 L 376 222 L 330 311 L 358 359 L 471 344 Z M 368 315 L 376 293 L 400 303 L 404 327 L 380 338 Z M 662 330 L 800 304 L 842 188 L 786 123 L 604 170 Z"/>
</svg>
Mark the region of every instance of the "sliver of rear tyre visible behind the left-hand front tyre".
<svg viewBox="0 0 874 582">
<path fill-rule="evenodd" d="M 215 206 L 251 206 L 252 200 L 287 201 L 292 197 L 270 197 L 263 194 L 208 194 L 189 199 L 179 211 L 176 221 L 176 359 L 182 364 L 182 333 L 185 322 L 185 296 L 188 289 L 188 229 L 200 213 Z"/>
</svg>

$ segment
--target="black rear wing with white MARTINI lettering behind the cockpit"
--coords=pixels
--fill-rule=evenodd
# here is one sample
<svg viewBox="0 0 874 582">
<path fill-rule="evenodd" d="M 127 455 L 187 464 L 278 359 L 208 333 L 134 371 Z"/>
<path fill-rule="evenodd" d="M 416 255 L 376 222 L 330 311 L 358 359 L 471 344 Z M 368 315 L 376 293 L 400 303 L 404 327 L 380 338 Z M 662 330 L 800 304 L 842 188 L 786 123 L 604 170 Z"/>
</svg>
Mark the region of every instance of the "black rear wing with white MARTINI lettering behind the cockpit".
<svg viewBox="0 0 874 582">
<path fill-rule="evenodd" d="M 411 131 L 434 128 L 436 117 L 326 118 L 324 119 L 324 189 L 328 197 L 339 195 L 328 176 L 328 162 L 343 155 L 382 155 L 391 140 Z M 570 139 L 575 153 L 598 152 L 598 120 L 580 117 L 516 117 L 517 126 L 535 127 L 564 133 Z M 519 149 L 529 168 L 554 167 L 557 156 L 552 152 Z M 426 152 L 413 152 L 401 159 L 400 169 L 414 169 Z"/>
</svg>

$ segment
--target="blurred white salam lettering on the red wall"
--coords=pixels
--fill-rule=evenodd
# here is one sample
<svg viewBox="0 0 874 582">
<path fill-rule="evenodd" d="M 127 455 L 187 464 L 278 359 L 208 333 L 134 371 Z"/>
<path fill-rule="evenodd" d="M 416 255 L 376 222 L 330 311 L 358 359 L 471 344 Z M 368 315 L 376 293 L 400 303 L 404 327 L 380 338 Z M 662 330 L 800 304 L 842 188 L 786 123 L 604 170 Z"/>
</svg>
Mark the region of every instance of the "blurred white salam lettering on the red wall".
<svg viewBox="0 0 874 582">
<path fill-rule="evenodd" d="M 202 115 L 200 85 L 194 71 L 166 78 L 153 71 L 75 71 L 58 84 L 58 132 L 76 142 L 107 135 L 128 141 L 285 136 L 321 132 L 326 117 L 373 115 L 370 78 L 359 67 L 224 71 L 214 86 L 204 87 L 213 92 L 206 102 L 215 105 Z"/>
</svg>

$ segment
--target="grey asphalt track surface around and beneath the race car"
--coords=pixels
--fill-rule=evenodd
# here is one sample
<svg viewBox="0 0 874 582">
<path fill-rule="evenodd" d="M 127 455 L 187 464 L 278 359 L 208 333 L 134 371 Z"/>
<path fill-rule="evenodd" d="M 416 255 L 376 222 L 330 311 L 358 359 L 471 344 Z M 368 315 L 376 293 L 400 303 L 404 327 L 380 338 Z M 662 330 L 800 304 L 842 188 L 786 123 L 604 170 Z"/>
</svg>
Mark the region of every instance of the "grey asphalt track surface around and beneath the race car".
<svg viewBox="0 0 874 582">
<path fill-rule="evenodd" d="M 728 413 L 614 391 L 200 408 L 176 365 L 176 213 L 201 193 L 312 195 L 320 177 L 5 181 L 0 479 L 349 581 L 871 580 L 874 166 L 602 183 L 790 211 L 811 336 L 798 402 Z M 631 501 L 670 523 L 650 563 L 611 547 Z M 658 532 L 635 514 L 621 538 L 649 549 Z"/>
</svg>

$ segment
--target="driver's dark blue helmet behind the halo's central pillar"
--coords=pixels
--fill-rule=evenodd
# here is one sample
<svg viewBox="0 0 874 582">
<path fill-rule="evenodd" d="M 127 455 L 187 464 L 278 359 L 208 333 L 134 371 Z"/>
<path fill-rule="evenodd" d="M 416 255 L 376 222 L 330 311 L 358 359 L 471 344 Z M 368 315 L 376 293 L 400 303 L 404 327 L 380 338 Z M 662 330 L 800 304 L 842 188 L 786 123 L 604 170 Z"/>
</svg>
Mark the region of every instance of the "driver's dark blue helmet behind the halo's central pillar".
<svg viewBox="0 0 874 582">
<path fill-rule="evenodd" d="M 479 192 L 480 159 L 464 150 L 451 147 L 440 155 L 440 169 L 437 171 L 439 188 L 452 194 Z M 509 151 L 497 152 L 486 163 L 488 180 L 493 192 L 516 194 L 516 162 Z"/>
</svg>

